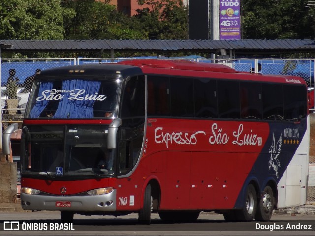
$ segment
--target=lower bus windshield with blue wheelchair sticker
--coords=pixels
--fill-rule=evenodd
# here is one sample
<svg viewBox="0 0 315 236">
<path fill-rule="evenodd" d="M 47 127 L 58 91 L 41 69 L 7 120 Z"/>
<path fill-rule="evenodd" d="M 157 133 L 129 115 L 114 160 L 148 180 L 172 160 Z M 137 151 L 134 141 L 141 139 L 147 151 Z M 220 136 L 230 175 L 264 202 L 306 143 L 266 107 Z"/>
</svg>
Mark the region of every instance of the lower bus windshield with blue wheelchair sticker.
<svg viewBox="0 0 315 236">
<path fill-rule="evenodd" d="M 114 151 L 107 149 L 107 125 L 30 126 L 22 174 L 102 177 L 114 173 Z"/>
</svg>

